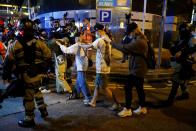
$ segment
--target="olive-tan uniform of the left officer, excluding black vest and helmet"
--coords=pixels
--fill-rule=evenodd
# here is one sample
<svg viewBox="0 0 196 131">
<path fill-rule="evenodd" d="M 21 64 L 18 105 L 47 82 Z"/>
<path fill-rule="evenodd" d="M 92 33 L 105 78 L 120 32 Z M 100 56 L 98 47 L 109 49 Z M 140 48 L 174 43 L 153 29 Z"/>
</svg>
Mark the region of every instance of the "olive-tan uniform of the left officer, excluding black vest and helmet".
<svg viewBox="0 0 196 131">
<path fill-rule="evenodd" d="M 34 58 L 35 65 L 38 65 L 43 62 L 47 62 L 51 59 L 51 52 L 45 43 L 36 39 L 32 39 L 31 41 L 27 42 L 27 44 L 32 44 L 32 43 L 35 44 L 35 58 Z M 6 58 L 5 58 L 5 65 L 4 65 L 5 73 L 6 70 L 11 70 L 8 68 L 11 67 L 10 65 L 12 63 L 16 66 L 16 71 L 19 73 L 19 77 L 24 81 L 24 86 L 25 86 L 25 95 L 23 100 L 23 105 L 25 108 L 24 120 L 32 120 L 33 122 L 31 124 L 33 125 L 34 109 L 35 109 L 34 99 L 36 101 L 38 109 L 41 112 L 41 116 L 45 117 L 48 115 L 46 110 L 46 104 L 44 103 L 43 95 L 39 91 L 43 74 L 41 74 L 41 72 L 38 72 L 33 77 L 29 76 L 26 69 L 28 69 L 30 65 L 25 62 L 23 45 L 18 40 L 16 40 L 8 48 Z"/>
</svg>

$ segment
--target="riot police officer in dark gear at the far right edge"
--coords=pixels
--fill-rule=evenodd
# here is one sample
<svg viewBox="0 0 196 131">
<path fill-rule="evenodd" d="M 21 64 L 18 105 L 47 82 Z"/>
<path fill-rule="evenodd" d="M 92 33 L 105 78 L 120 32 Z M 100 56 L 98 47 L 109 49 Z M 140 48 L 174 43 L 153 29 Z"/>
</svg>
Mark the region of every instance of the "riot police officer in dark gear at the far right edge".
<svg viewBox="0 0 196 131">
<path fill-rule="evenodd" d="M 181 88 L 182 94 L 177 99 L 188 99 L 187 92 L 188 80 L 194 75 L 192 70 L 192 56 L 195 46 L 190 46 L 191 29 L 187 23 L 182 23 L 179 26 L 179 41 L 177 41 L 170 49 L 173 57 L 171 58 L 171 65 L 175 69 L 172 80 L 172 89 L 165 104 L 172 105 L 177 94 L 178 87 Z"/>
</svg>

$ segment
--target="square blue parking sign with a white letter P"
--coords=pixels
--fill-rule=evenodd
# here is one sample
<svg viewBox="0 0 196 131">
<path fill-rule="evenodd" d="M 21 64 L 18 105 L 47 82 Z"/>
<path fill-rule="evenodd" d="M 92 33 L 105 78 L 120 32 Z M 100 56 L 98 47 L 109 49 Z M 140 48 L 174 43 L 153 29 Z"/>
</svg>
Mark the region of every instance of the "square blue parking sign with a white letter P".
<svg viewBox="0 0 196 131">
<path fill-rule="evenodd" d="M 111 10 L 99 10 L 99 22 L 110 23 L 112 20 Z"/>
</svg>

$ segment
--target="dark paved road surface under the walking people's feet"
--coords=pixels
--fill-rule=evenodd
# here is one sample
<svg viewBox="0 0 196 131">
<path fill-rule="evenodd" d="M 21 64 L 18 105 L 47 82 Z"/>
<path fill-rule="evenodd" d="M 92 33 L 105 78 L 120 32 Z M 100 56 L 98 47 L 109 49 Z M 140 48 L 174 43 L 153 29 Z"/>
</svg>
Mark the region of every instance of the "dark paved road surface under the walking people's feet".
<svg viewBox="0 0 196 131">
<path fill-rule="evenodd" d="M 90 85 L 92 84 L 89 82 Z M 111 83 L 110 86 L 116 85 Z M 36 127 L 20 128 L 17 121 L 24 116 L 21 98 L 9 98 L 0 109 L 1 131 L 23 130 L 65 130 L 65 131 L 195 131 L 196 130 L 196 85 L 189 85 L 191 97 L 186 101 L 176 101 L 172 107 L 159 107 L 158 101 L 167 98 L 170 87 L 165 83 L 150 83 L 145 87 L 149 112 L 145 116 L 119 118 L 108 109 L 109 103 L 99 99 L 96 108 L 86 107 L 81 100 L 69 100 L 64 94 L 45 94 L 50 117 L 44 121 L 36 110 Z M 164 88 L 158 88 L 160 87 Z M 115 90 L 116 96 L 124 103 L 123 89 Z M 137 106 L 134 91 L 133 108 Z"/>
</svg>

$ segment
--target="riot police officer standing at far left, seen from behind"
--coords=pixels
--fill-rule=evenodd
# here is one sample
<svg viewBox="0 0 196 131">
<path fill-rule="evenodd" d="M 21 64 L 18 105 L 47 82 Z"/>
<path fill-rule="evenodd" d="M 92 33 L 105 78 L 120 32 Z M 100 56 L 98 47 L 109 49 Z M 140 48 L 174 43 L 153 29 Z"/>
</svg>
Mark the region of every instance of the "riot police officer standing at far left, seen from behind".
<svg viewBox="0 0 196 131">
<path fill-rule="evenodd" d="M 8 48 L 3 66 L 3 79 L 9 77 L 9 71 L 15 68 L 15 72 L 25 86 L 23 105 L 25 108 L 24 120 L 18 122 L 21 127 L 32 127 L 34 122 L 35 103 L 41 113 L 41 117 L 48 116 L 46 104 L 39 91 L 43 72 L 47 70 L 47 63 L 51 60 L 49 48 L 41 40 L 34 37 L 33 21 L 23 18 L 18 24 L 19 34 L 16 41 Z"/>
</svg>

